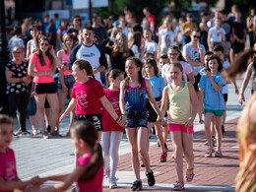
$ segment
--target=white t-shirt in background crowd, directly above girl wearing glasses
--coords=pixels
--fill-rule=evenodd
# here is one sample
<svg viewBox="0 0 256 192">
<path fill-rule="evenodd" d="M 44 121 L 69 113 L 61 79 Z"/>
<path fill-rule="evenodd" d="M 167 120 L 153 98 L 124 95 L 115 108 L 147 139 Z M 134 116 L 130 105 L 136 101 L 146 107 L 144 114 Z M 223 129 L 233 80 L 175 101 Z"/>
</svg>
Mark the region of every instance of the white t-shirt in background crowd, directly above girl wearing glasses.
<svg viewBox="0 0 256 192">
<path fill-rule="evenodd" d="M 177 33 L 172 31 L 167 31 L 166 29 L 160 31 L 160 48 L 166 48 L 169 46 L 176 45 L 174 38 Z"/>
</svg>

